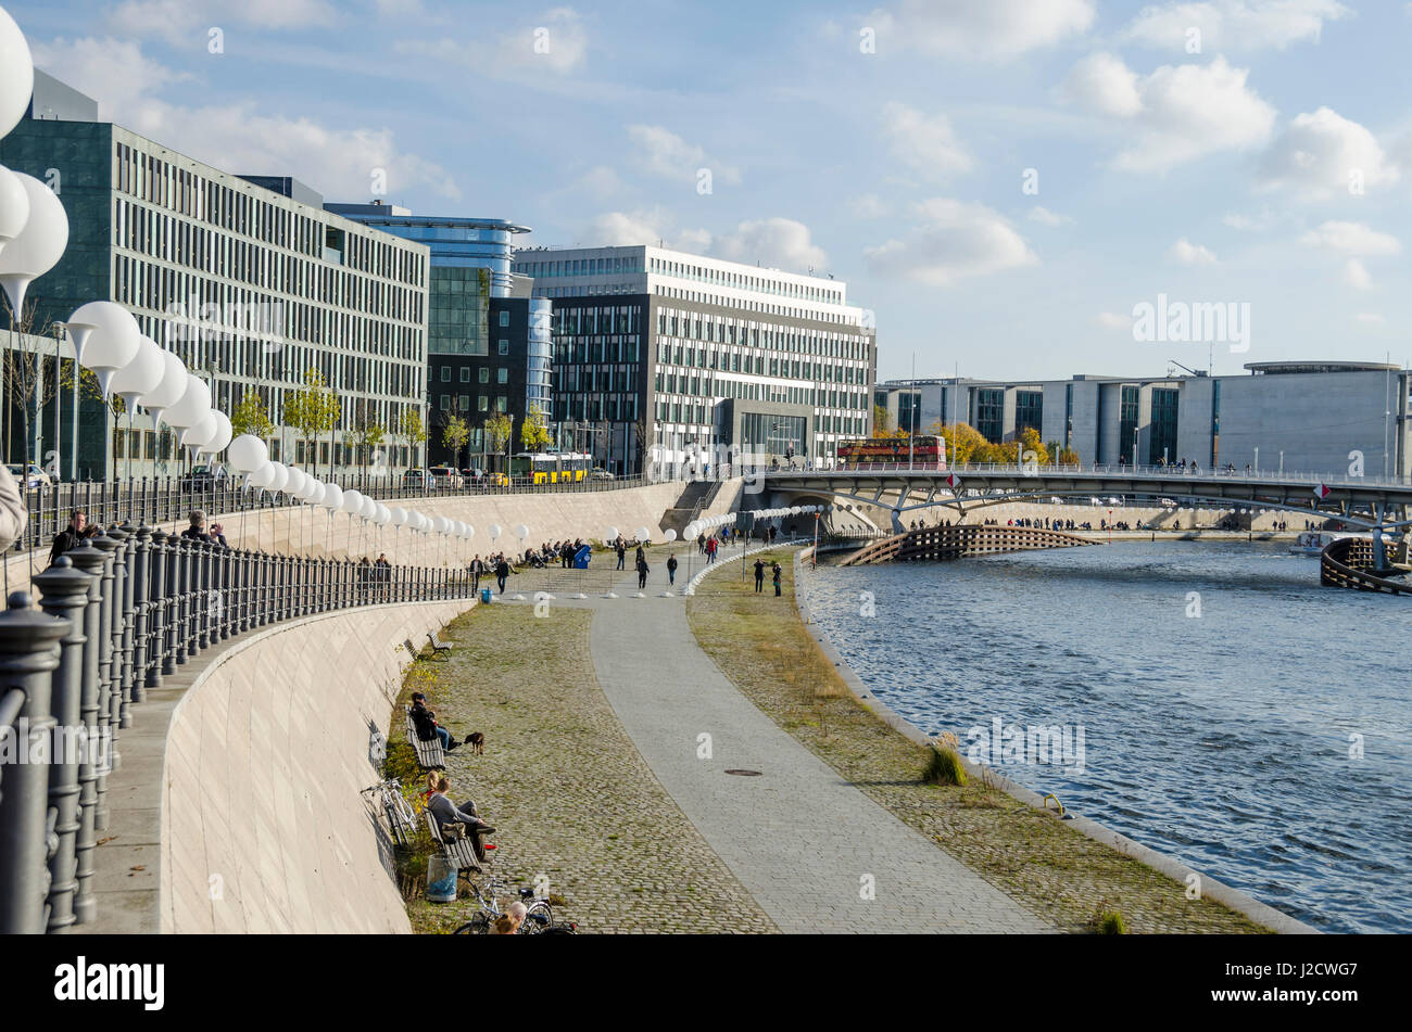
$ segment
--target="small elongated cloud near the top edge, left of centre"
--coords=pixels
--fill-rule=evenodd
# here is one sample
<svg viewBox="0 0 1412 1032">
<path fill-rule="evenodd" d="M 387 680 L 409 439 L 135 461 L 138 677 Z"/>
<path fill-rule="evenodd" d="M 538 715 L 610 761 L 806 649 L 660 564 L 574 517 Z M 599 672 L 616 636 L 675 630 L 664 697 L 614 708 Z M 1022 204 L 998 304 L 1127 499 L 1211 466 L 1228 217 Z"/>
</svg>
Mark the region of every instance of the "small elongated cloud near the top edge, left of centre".
<svg viewBox="0 0 1412 1032">
<path fill-rule="evenodd" d="M 404 58 L 442 61 L 476 75 L 511 82 L 534 82 L 544 72 L 568 75 L 582 68 L 589 55 L 589 34 L 583 17 L 572 7 L 555 7 L 497 37 L 476 35 L 469 41 L 400 39 L 394 54 Z M 545 30 L 539 35 L 539 30 Z"/>
</svg>

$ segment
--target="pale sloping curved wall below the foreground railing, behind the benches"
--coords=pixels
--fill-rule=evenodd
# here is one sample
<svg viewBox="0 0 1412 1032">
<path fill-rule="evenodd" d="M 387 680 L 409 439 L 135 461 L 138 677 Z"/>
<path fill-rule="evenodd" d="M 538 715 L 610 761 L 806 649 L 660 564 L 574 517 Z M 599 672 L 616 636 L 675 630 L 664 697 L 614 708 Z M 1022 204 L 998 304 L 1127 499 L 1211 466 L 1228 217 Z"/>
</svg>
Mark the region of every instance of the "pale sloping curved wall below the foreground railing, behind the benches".
<svg viewBox="0 0 1412 1032">
<path fill-rule="evenodd" d="M 424 643 L 466 602 L 315 616 L 241 641 L 171 718 L 161 801 L 162 932 L 408 932 L 359 791 L 376 727 Z"/>
</svg>

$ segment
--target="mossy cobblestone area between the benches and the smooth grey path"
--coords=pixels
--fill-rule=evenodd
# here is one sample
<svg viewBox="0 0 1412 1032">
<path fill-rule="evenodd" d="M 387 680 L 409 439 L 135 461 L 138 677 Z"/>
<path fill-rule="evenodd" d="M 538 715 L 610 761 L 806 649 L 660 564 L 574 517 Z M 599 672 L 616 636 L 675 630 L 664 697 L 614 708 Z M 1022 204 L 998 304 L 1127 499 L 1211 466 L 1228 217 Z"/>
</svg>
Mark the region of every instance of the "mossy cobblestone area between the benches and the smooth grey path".
<svg viewBox="0 0 1412 1032">
<path fill-rule="evenodd" d="M 546 878 L 555 919 L 586 933 L 774 932 L 624 733 L 587 661 L 589 620 L 477 608 L 442 633 L 449 660 L 418 664 L 435 674 L 424 689 L 438 719 L 486 736 L 483 756 L 462 746 L 446 773 L 452 797 L 497 828 L 497 877 Z M 426 916 L 449 929 L 473 912 L 457 901 Z"/>
</svg>

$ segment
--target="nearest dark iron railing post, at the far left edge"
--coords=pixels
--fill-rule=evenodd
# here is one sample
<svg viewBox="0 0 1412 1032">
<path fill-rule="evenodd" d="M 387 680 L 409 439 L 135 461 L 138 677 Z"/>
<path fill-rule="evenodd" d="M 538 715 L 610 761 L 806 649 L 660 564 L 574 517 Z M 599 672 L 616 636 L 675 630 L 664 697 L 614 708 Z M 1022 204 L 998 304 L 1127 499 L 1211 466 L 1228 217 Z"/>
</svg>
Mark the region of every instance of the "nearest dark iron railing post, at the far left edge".
<svg viewBox="0 0 1412 1032">
<path fill-rule="evenodd" d="M 38 935 L 49 888 L 49 742 L 55 726 L 49 692 L 68 623 L 31 609 L 17 591 L 0 613 L 0 706 L 23 695 L 7 743 L 25 763 L 0 766 L 0 935 Z M 18 758 L 18 756 L 16 757 Z M 37 761 L 38 760 L 38 761 Z"/>
</svg>

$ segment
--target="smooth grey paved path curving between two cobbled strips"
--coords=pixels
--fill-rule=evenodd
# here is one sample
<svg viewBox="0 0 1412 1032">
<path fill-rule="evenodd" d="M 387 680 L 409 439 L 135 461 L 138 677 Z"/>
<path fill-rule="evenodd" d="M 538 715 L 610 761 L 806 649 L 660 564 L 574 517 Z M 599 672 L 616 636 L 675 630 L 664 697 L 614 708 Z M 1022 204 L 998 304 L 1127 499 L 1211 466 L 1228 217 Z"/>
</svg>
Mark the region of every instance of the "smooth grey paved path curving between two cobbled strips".
<svg viewBox="0 0 1412 1032">
<path fill-rule="evenodd" d="M 760 712 L 698 647 L 681 598 L 635 591 L 633 577 L 620 598 L 552 605 L 594 610 L 593 665 L 614 712 L 782 932 L 1052 930 Z M 760 775 L 726 773 L 737 768 Z"/>
</svg>

